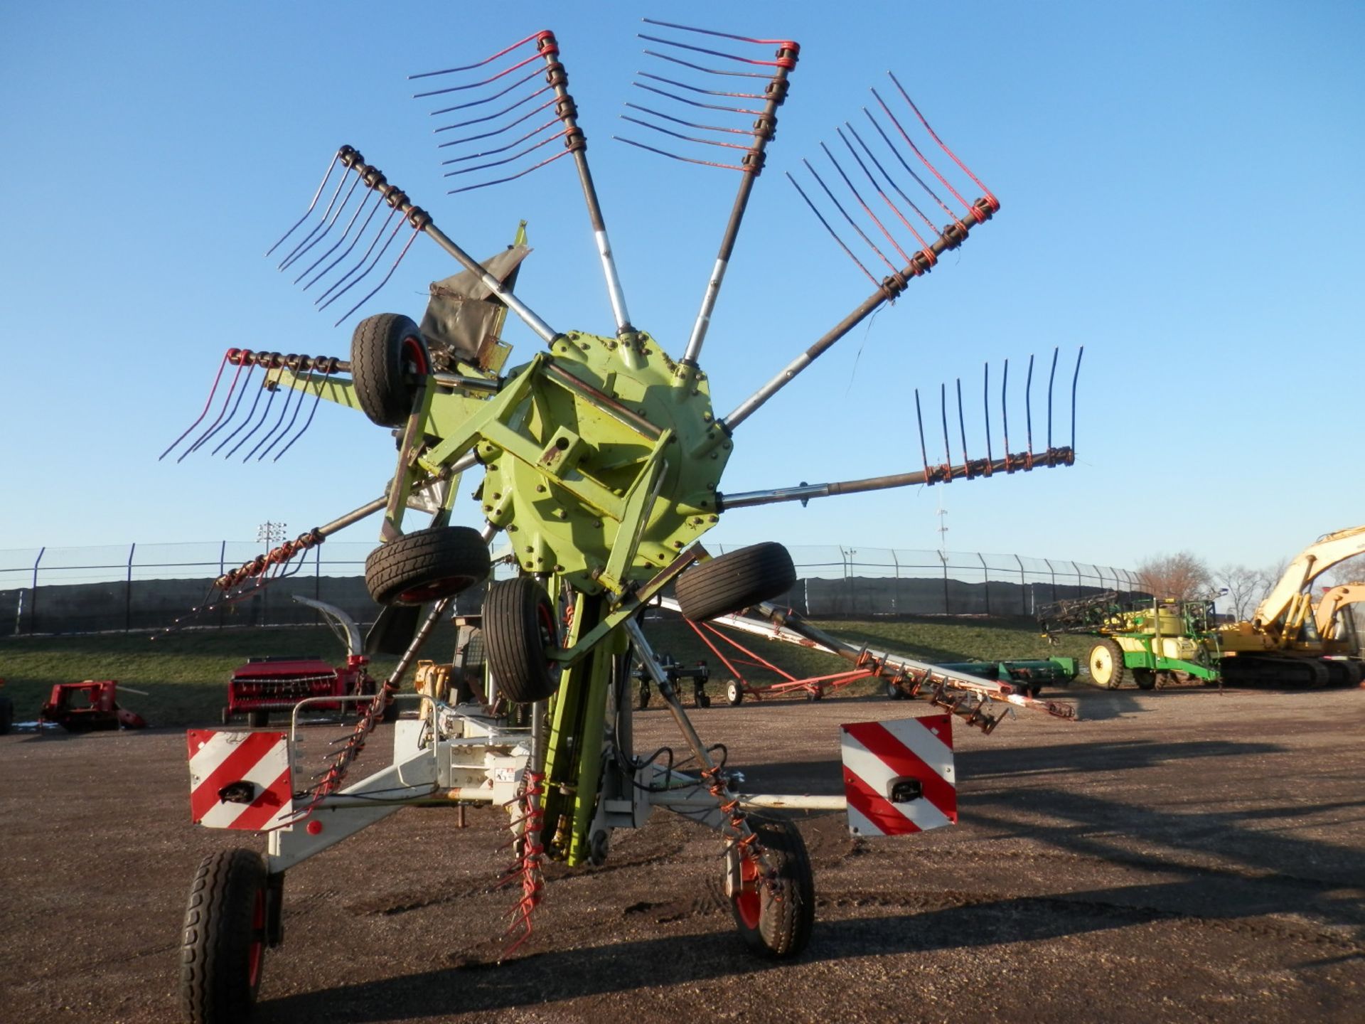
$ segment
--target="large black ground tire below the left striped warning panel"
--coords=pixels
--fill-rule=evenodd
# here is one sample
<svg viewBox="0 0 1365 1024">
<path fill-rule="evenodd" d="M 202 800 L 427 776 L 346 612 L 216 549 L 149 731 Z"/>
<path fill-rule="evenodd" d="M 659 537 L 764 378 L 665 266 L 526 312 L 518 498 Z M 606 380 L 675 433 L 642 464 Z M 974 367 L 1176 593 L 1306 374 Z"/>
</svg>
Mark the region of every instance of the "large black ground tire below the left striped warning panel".
<svg viewBox="0 0 1365 1024">
<path fill-rule="evenodd" d="M 190 1024 L 246 1020 L 261 989 L 266 872 L 261 855 L 224 849 L 199 862 L 180 939 L 180 1013 Z"/>
</svg>

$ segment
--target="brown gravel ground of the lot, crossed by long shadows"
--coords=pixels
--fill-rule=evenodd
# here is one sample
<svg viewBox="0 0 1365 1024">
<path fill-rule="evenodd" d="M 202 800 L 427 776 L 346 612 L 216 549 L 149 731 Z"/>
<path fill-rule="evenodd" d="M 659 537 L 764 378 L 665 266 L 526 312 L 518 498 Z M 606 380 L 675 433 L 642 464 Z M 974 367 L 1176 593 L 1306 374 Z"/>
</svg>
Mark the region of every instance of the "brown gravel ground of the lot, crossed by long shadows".
<svg viewBox="0 0 1365 1024">
<path fill-rule="evenodd" d="M 1365 692 L 1076 700 L 1081 722 L 958 726 L 954 829 L 854 840 L 839 815 L 803 821 L 818 909 L 793 963 L 747 954 L 718 840 L 658 811 L 606 866 L 551 867 L 535 935 L 497 965 L 505 815 L 460 829 L 405 810 L 289 874 L 254 1020 L 1361 1020 Z M 747 789 L 830 793 L 839 722 L 930 710 L 693 720 Z M 676 743 L 662 710 L 636 730 Z M 190 878 L 240 841 L 190 825 L 183 735 L 0 737 L 0 1019 L 176 1020 Z"/>
</svg>

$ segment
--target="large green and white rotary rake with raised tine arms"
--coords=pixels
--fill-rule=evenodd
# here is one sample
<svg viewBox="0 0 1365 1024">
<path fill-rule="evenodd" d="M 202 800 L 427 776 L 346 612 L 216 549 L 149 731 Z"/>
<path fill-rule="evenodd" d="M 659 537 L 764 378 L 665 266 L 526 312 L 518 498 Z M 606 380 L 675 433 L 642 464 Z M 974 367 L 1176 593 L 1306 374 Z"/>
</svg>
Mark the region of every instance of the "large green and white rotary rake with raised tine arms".
<svg viewBox="0 0 1365 1024">
<path fill-rule="evenodd" d="M 263 950 L 283 935 L 284 877 L 291 867 L 407 806 L 508 810 L 516 860 L 502 883 L 516 887 L 519 898 L 506 930 L 506 953 L 531 933 L 546 857 L 569 866 L 602 863 L 614 829 L 639 827 L 654 807 L 667 807 L 719 831 L 725 893 L 747 943 L 762 954 L 794 956 L 811 933 L 814 883 L 800 831 L 786 819 L 768 816 L 770 808 L 848 810 L 850 827 L 864 834 L 949 823 L 956 821 L 951 718 L 990 730 L 1011 705 L 1029 706 L 1005 684 L 902 665 L 901 679 L 915 680 L 919 673 L 931 683 L 910 683 L 906 692 L 931 699 L 947 714 L 844 726 L 846 797 L 738 792 L 740 776 L 726 765 L 725 747 L 706 744 L 692 726 L 673 673 L 642 632 L 648 603 L 673 587 L 682 613 L 700 621 L 768 602 L 794 582 L 792 558 L 778 543 L 711 558 L 699 541 L 722 513 L 1069 466 L 1074 456 L 1069 446 L 1051 446 L 1051 438 L 1039 453 L 1032 445 L 1028 452 L 1009 453 L 1006 442 L 1003 457 L 988 453 L 969 460 L 964 452 L 961 463 L 949 456 L 930 466 L 925 455 L 921 471 L 891 477 L 721 490 L 738 427 L 857 324 L 932 270 L 942 254 L 966 242 L 999 203 L 928 128 L 894 76 L 891 89 L 874 90 L 878 109 L 865 111 L 870 124 L 861 130 L 848 124 L 837 132 L 848 156 L 826 149 L 833 173 L 805 165 L 819 188 L 809 183 L 803 188 L 789 176 L 872 280 L 874 291 L 751 397 L 717 416 L 702 347 L 800 48 L 785 40 L 659 22 L 650 26 L 642 38 L 652 70 L 639 72 L 633 83 L 648 105 L 628 104 L 624 117 L 651 132 L 651 141 L 667 142 L 622 141 L 738 175 L 734 205 L 681 358 L 667 355 L 631 321 L 560 44 L 541 31 L 476 64 L 416 76 L 435 86 L 419 96 L 440 97 L 434 113 L 452 119 L 435 130 L 446 154 L 445 173 L 455 186 L 450 194 L 519 179 L 562 157 L 572 160 L 614 332 L 551 326 L 513 291 L 527 253 L 524 235 L 480 264 L 356 149 L 343 146 L 303 217 L 272 250 L 281 254 L 281 270 L 314 289 L 319 309 L 347 304 L 362 283 L 377 279 L 337 324 L 392 277 L 419 235 L 453 257 L 461 270 L 431 285 L 420 324 L 400 314 L 362 319 L 349 359 L 229 350 L 199 419 L 164 453 L 202 426 L 180 459 L 205 449 L 227 449 L 229 457 L 244 449 L 246 459 L 278 459 L 311 423 L 322 399 L 358 410 L 399 437 L 397 468 L 385 494 L 218 580 L 220 599 L 232 599 L 242 588 L 287 572 L 299 552 L 382 511 L 381 545 L 367 558 L 364 576 L 384 609 L 369 642 L 371 650 L 401 655 L 354 733 L 307 784 L 293 778 L 292 730 L 190 735 L 195 821 L 268 836 L 263 860 L 239 848 L 206 857 L 195 874 L 180 987 L 191 1020 L 235 1020 L 250 1009 Z M 729 123 L 736 115 L 738 123 Z M 981 187 L 983 198 L 968 202 L 961 197 L 912 141 L 906 130 L 912 124 Z M 733 157 L 708 158 L 714 152 Z M 927 171 L 917 172 L 912 161 Z M 921 203 L 936 205 L 947 225 L 935 227 L 908 188 L 921 190 Z M 842 201 L 841 193 L 846 193 Z M 864 193 L 876 194 L 889 213 L 879 218 Z M 820 195 L 826 202 L 818 202 Z M 850 206 L 861 216 L 852 216 Z M 878 277 L 867 269 L 830 224 L 835 217 L 887 273 Z M 895 229 L 887 223 L 895 223 Z M 885 240 L 875 243 L 872 235 Z M 908 236 L 915 242 L 902 247 L 898 239 Z M 894 258 L 887 255 L 893 250 Z M 545 343 L 543 351 L 511 369 L 505 369 L 509 345 L 501 340 L 508 311 Z M 228 366 L 229 384 L 210 419 Z M 261 386 L 250 396 L 258 370 Z M 242 407 L 246 419 L 239 416 Z M 946 411 L 943 418 L 946 436 Z M 923 440 L 923 427 L 920 433 Z M 476 467 L 483 471 L 474 492 L 483 526 L 453 524 L 461 477 Z M 405 528 L 411 509 L 430 513 L 430 524 Z M 487 692 L 474 702 L 450 703 L 448 691 L 427 687 L 420 714 L 404 715 L 394 725 L 393 763 L 352 780 L 348 769 L 434 625 L 456 594 L 490 576 L 489 543 L 498 532 L 509 545 L 516 575 L 489 583 L 482 608 Z M 646 756 L 633 750 L 636 662 L 677 722 L 687 751 L 678 758 L 669 748 Z"/>
</svg>

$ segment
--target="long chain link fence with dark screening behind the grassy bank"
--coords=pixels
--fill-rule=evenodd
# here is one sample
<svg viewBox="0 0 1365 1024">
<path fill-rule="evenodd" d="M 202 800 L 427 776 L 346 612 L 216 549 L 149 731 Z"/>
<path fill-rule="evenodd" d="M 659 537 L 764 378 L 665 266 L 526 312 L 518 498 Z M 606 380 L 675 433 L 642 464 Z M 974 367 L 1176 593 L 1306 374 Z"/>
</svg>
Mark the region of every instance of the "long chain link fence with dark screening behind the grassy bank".
<svg viewBox="0 0 1365 1024">
<path fill-rule="evenodd" d="M 711 543 L 707 550 L 721 554 L 733 546 Z M 317 613 L 293 594 L 369 623 L 378 612 L 364 588 L 373 547 L 319 545 L 268 587 L 235 601 L 222 601 L 213 580 L 261 554 L 259 543 L 0 550 L 0 636 L 315 623 Z M 1127 569 L 1069 558 L 842 546 L 790 552 L 797 583 L 785 601 L 814 617 L 1032 616 L 1058 599 L 1138 590 Z M 476 605 L 478 595 L 470 602 Z"/>
</svg>

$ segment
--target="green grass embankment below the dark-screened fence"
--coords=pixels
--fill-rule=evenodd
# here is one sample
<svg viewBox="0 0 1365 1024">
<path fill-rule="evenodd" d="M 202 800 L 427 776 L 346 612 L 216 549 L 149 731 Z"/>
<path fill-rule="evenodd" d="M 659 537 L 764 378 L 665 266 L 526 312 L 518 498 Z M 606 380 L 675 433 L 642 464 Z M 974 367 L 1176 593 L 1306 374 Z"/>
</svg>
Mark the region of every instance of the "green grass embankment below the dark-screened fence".
<svg viewBox="0 0 1365 1024">
<path fill-rule="evenodd" d="M 875 621 L 818 623 L 824 629 L 863 644 L 891 650 L 930 662 L 975 661 L 990 658 L 1047 658 L 1069 655 L 1084 658 L 1088 638 L 1063 636 L 1050 647 L 1037 635 L 1032 620 L 961 620 L 915 618 Z M 715 655 L 681 621 L 648 621 L 646 634 L 659 653 L 684 664 L 704 659 L 711 666 L 710 692 L 719 696 L 729 673 Z M 766 661 L 800 677 L 842 672 L 846 662 L 792 644 L 758 636 L 736 636 L 745 647 Z M 449 658 L 453 629 L 444 625 L 423 651 L 431 658 Z M 726 657 L 738 654 L 717 642 Z M 227 703 L 227 681 L 232 670 L 248 657 L 318 655 L 341 664 L 345 651 L 326 627 L 202 629 L 160 634 L 100 634 L 86 636 L 8 638 L 0 640 L 0 679 L 12 702 L 15 721 L 31 721 L 48 699 L 53 684 L 79 683 L 86 679 L 116 679 L 123 687 L 146 691 L 146 696 L 123 692 L 120 703 L 143 715 L 150 725 L 209 725 L 218 721 L 218 709 Z M 743 655 L 740 655 L 743 657 Z M 732 657 L 733 661 L 733 657 Z M 371 668 L 381 674 L 394 658 L 378 658 Z M 763 685 L 777 676 L 744 668 L 749 683 Z M 848 694 L 865 694 L 871 684 L 848 687 Z"/>
</svg>

